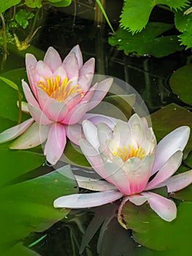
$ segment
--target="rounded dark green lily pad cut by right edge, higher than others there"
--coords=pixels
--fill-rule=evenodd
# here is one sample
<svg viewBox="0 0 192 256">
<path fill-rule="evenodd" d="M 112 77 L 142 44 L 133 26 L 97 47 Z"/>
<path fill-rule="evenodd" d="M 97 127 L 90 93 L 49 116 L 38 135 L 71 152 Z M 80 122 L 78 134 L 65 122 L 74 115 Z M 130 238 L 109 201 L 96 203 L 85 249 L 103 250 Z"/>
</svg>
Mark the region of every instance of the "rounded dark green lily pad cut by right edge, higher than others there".
<svg viewBox="0 0 192 256">
<path fill-rule="evenodd" d="M 169 83 L 174 94 L 177 94 L 183 102 L 192 105 L 192 64 L 177 69 L 172 74 Z"/>
</svg>

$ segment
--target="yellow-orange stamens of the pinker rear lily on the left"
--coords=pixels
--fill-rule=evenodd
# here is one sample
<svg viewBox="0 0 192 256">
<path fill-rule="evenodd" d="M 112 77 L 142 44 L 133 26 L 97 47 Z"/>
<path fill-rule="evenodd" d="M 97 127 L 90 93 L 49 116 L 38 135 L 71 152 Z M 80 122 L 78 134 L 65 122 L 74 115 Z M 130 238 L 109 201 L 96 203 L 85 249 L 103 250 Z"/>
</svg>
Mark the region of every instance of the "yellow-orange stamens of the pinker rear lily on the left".
<svg viewBox="0 0 192 256">
<path fill-rule="evenodd" d="M 60 75 L 57 75 L 55 79 L 53 77 L 46 78 L 46 82 L 39 80 L 38 86 L 47 93 L 51 98 L 58 102 L 64 102 L 64 100 L 72 94 L 82 91 L 80 85 L 69 86 L 72 80 L 65 78 L 61 80 Z"/>
</svg>

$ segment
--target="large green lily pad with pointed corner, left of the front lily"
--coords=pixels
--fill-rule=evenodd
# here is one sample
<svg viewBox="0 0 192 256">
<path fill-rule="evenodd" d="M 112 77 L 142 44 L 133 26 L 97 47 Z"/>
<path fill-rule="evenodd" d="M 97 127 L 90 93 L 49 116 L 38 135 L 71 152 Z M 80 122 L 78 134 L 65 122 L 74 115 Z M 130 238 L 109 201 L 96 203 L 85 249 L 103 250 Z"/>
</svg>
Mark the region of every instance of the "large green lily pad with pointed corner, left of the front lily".
<svg viewBox="0 0 192 256">
<path fill-rule="evenodd" d="M 3 252 L 23 241 L 31 232 L 42 232 L 69 213 L 53 208 L 53 200 L 77 193 L 69 165 L 52 173 L 20 182 L 0 190 L 1 236 Z M 9 232 L 7 232 L 9 230 Z"/>
</svg>

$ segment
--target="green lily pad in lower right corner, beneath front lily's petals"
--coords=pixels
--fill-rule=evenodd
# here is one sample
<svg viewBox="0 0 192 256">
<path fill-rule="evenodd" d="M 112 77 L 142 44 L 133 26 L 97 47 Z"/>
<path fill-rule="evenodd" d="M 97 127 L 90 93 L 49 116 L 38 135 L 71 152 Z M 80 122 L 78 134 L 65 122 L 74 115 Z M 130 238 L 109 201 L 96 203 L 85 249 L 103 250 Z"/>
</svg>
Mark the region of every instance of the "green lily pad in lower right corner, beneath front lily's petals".
<svg viewBox="0 0 192 256">
<path fill-rule="evenodd" d="M 146 203 L 135 206 L 127 202 L 123 206 L 122 214 L 123 220 L 133 230 L 134 239 L 139 244 L 169 253 L 177 250 L 177 256 L 188 255 L 185 252 L 191 251 L 191 202 L 184 202 L 178 206 L 177 218 L 172 222 L 165 222 L 158 217 Z M 161 252 L 160 255 L 166 253 Z"/>
</svg>

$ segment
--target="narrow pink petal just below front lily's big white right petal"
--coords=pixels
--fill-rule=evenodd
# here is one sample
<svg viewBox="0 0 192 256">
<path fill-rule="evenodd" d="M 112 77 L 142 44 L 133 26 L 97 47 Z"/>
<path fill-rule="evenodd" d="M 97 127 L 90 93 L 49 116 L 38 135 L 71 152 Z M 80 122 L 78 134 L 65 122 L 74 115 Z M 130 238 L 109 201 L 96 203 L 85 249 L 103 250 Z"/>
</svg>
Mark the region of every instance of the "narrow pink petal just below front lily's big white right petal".
<svg viewBox="0 0 192 256">
<path fill-rule="evenodd" d="M 167 162 L 161 167 L 153 180 L 147 184 L 147 187 L 145 189 L 152 189 L 153 187 L 156 187 L 158 184 L 161 184 L 162 182 L 170 178 L 176 172 L 178 167 L 180 167 L 182 157 L 182 151 L 175 152 L 172 157 L 170 157 Z"/>
</svg>

